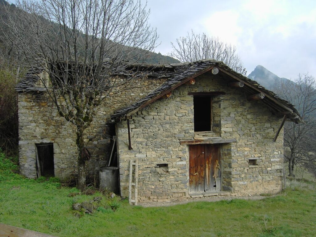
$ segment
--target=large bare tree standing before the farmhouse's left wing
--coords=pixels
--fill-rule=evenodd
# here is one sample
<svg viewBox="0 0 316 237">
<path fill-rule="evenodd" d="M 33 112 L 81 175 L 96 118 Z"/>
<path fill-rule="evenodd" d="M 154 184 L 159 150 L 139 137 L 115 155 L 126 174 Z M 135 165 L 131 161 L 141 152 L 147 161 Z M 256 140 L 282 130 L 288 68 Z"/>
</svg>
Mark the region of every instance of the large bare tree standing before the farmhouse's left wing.
<svg viewBox="0 0 316 237">
<path fill-rule="evenodd" d="M 110 75 L 141 61 L 155 48 L 156 30 L 141 0 L 22 0 L 10 14 L 3 41 L 41 65 L 60 116 L 76 126 L 78 188 L 86 185 L 83 133 L 119 80 Z M 8 9 L 9 10 L 9 9 Z M 65 104 L 65 105 L 64 105 Z"/>
</svg>

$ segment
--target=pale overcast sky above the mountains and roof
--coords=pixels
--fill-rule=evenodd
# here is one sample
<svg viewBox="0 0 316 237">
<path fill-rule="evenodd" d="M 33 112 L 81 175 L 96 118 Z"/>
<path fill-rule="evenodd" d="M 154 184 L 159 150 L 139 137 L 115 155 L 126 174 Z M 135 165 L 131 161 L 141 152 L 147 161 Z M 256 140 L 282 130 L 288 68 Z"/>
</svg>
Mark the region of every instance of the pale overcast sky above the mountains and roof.
<svg viewBox="0 0 316 237">
<path fill-rule="evenodd" d="M 316 77 L 316 1 L 148 0 L 150 24 L 167 55 L 188 31 L 237 47 L 247 75 L 262 65 L 279 77 Z"/>
</svg>

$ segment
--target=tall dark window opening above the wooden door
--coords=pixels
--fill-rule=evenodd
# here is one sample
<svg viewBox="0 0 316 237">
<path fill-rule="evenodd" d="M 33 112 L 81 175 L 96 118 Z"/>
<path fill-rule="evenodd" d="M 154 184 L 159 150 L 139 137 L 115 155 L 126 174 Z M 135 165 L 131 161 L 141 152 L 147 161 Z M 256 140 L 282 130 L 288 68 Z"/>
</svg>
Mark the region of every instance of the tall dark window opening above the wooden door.
<svg viewBox="0 0 316 237">
<path fill-rule="evenodd" d="M 212 131 L 212 98 L 194 96 L 194 131 Z"/>
</svg>

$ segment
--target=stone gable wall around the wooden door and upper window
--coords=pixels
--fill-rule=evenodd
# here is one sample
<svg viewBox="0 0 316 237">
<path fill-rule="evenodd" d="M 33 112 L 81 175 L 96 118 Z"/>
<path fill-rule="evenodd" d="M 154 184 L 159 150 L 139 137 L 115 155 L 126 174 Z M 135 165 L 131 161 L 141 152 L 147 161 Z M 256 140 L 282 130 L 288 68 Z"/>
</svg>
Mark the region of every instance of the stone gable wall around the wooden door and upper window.
<svg viewBox="0 0 316 237">
<path fill-rule="evenodd" d="M 116 126 L 121 195 L 128 196 L 130 159 L 138 159 L 138 199 L 165 201 L 189 195 L 189 145 L 193 139 L 193 96 L 188 92 L 223 91 L 213 100 L 215 136 L 235 138 L 221 145 L 222 190 L 244 194 L 277 192 L 282 188 L 283 132 L 273 138 L 282 118 L 260 101 L 248 101 L 242 88 L 230 88 L 219 75 L 204 74 L 194 85 L 182 85 L 170 98 L 161 98 L 132 116 L 128 150 L 126 121 Z M 210 135 L 214 136 L 214 135 Z M 250 165 L 249 159 L 256 160 Z M 168 165 L 161 173 L 159 164 Z"/>
</svg>

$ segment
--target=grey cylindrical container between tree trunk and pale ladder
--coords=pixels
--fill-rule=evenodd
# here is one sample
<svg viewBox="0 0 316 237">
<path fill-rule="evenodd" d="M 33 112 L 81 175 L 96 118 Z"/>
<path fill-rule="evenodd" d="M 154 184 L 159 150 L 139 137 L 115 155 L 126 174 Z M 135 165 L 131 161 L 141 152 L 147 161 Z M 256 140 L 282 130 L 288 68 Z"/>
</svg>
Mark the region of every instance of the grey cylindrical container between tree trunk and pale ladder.
<svg viewBox="0 0 316 237">
<path fill-rule="evenodd" d="M 100 188 L 106 188 L 119 194 L 119 167 L 100 168 Z"/>
</svg>

